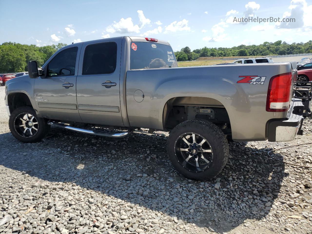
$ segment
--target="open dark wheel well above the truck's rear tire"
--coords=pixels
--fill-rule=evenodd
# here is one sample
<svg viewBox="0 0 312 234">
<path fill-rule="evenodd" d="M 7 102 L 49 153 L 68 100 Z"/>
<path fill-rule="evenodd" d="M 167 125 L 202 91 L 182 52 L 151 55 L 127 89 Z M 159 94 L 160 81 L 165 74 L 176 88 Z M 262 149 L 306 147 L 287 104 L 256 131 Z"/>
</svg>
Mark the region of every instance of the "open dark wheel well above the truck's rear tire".
<svg viewBox="0 0 312 234">
<path fill-rule="evenodd" d="M 188 119 L 206 119 L 220 127 L 230 128 L 227 110 L 221 102 L 206 97 L 176 97 L 163 110 L 163 127 L 171 130 Z"/>
</svg>

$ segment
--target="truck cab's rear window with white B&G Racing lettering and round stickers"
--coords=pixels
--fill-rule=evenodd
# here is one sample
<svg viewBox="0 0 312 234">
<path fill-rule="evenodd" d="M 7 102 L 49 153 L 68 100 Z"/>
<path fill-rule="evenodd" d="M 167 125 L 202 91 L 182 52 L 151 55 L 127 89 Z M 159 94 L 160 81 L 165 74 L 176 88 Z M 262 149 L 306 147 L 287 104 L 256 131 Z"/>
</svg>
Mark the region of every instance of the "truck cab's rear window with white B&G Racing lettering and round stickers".
<svg viewBox="0 0 312 234">
<path fill-rule="evenodd" d="M 150 42 L 131 42 L 130 69 L 178 67 L 172 48 Z"/>
</svg>

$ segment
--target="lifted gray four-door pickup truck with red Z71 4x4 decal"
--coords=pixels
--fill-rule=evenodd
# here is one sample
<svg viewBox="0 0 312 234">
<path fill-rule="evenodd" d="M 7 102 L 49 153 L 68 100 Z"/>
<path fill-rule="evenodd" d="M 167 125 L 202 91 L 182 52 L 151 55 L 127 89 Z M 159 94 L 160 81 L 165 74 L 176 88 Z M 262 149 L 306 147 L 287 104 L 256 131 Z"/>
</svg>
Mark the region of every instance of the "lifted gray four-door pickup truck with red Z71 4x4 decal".
<svg viewBox="0 0 312 234">
<path fill-rule="evenodd" d="M 65 46 L 41 69 L 30 61 L 28 76 L 7 81 L 5 103 L 13 136 L 27 143 L 40 141 L 51 125 L 115 138 L 140 128 L 170 132 L 173 166 L 206 180 L 225 166 L 228 140 L 291 141 L 302 134 L 310 109 L 294 98 L 296 68 L 178 68 L 168 42 L 115 37 Z"/>
</svg>

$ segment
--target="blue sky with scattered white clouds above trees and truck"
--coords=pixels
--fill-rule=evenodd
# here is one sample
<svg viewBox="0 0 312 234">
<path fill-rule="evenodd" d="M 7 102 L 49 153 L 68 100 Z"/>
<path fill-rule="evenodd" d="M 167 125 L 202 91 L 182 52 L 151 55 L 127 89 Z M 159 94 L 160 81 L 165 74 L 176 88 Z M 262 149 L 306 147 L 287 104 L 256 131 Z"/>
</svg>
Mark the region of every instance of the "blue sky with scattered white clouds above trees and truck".
<svg viewBox="0 0 312 234">
<path fill-rule="evenodd" d="M 43 46 L 129 35 L 169 41 L 177 51 L 185 46 L 194 50 L 312 40 L 312 0 L 0 0 L 0 9 L 0 44 Z M 233 23 L 234 17 L 248 16 L 295 18 L 296 22 Z"/>
</svg>

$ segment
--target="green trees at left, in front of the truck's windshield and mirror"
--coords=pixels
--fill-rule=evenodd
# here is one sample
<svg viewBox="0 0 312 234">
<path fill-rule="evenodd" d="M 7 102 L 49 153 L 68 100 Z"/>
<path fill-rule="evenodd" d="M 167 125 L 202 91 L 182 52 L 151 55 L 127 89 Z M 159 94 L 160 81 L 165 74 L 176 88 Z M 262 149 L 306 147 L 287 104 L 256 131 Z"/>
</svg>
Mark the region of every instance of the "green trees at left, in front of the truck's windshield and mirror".
<svg viewBox="0 0 312 234">
<path fill-rule="evenodd" d="M 4 42 L 0 45 L 0 73 L 27 71 L 27 63 L 36 60 L 42 66 L 64 43 L 49 46 L 22 45 Z"/>
</svg>

